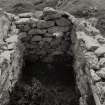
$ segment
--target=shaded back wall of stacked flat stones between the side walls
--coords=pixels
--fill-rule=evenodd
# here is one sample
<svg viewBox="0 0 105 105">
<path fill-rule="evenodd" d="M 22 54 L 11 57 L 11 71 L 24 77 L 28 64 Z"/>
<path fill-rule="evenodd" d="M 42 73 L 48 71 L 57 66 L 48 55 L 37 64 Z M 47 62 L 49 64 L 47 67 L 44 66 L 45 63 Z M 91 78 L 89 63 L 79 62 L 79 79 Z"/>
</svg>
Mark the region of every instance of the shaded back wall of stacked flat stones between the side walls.
<svg viewBox="0 0 105 105">
<path fill-rule="evenodd" d="M 25 59 L 51 63 L 56 55 L 70 55 L 73 24 L 67 15 L 45 8 L 40 19 L 20 15 L 15 24 Z"/>
</svg>

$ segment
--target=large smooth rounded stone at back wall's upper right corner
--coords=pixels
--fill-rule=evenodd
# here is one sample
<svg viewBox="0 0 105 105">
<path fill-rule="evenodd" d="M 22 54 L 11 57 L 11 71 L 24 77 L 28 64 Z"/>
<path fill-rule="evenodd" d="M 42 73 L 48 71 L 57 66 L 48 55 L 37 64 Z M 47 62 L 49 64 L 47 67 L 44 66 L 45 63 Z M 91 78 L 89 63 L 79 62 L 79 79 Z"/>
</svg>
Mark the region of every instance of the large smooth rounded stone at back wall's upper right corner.
<svg viewBox="0 0 105 105">
<path fill-rule="evenodd" d="M 62 18 L 56 20 L 56 24 L 58 26 L 68 26 L 68 25 L 71 25 L 71 22 L 70 22 L 70 20 L 62 17 Z"/>
</svg>

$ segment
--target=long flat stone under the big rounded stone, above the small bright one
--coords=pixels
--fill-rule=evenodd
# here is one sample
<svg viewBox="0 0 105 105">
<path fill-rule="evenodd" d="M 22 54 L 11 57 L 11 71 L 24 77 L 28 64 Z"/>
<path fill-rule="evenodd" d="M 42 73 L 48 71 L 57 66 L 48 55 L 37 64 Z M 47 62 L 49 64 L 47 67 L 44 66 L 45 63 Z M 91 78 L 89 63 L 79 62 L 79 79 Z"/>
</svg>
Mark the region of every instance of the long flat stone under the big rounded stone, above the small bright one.
<svg viewBox="0 0 105 105">
<path fill-rule="evenodd" d="M 55 26 L 48 29 L 48 33 L 67 32 L 67 31 L 69 31 L 69 27 Z"/>
</svg>

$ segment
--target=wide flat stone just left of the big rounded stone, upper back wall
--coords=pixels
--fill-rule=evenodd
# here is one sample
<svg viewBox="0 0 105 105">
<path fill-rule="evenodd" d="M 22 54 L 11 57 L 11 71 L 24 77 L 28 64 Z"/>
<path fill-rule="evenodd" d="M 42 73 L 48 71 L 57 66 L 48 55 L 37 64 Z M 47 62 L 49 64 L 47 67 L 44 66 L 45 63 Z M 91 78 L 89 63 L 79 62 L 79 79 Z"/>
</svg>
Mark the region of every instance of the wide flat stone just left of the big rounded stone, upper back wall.
<svg viewBox="0 0 105 105">
<path fill-rule="evenodd" d="M 49 28 L 49 27 L 52 27 L 54 26 L 54 21 L 44 21 L 44 20 L 40 20 L 38 23 L 37 23 L 37 28 Z"/>
</svg>

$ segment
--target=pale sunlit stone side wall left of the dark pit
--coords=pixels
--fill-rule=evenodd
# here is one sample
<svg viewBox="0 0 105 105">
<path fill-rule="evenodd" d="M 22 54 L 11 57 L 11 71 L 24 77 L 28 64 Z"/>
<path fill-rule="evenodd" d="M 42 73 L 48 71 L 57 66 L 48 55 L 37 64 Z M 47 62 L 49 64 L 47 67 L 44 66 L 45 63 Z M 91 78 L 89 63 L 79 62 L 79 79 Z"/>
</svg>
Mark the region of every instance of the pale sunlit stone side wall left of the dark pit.
<svg viewBox="0 0 105 105">
<path fill-rule="evenodd" d="M 8 102 L 9 91 L 18 80 L 22 66 L 20 42 L 11 21 L 4 13 L 0 17 L 0 105 Z"/>
</svg>

